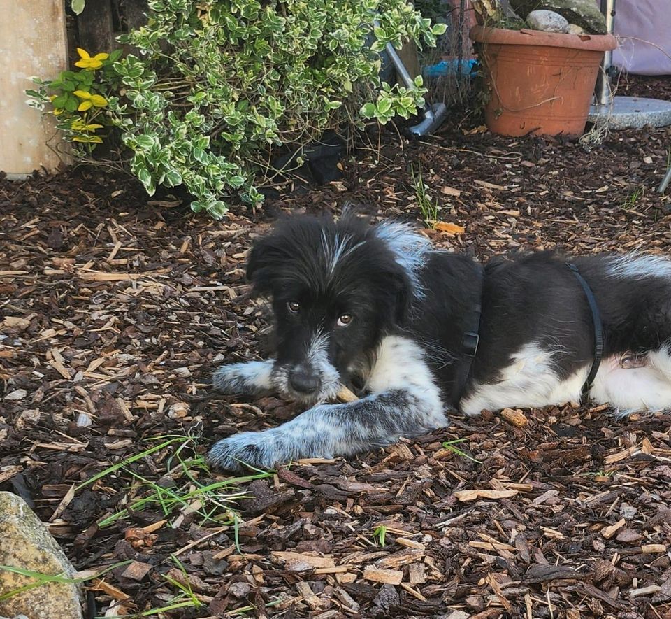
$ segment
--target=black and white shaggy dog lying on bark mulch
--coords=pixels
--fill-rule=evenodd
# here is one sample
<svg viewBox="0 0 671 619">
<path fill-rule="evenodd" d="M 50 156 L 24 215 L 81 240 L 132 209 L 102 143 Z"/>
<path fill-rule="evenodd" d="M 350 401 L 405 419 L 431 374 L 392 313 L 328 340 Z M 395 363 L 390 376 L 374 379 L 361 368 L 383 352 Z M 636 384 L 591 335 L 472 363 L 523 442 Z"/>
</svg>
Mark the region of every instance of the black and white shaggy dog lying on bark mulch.
<svg viewBox="0 0 671 619">
<path fill-rule="evenodd" d="M 312 407 L 219 441 L 210 462 L 238 469 L 352 455 L 444 427 L 449 407 L 477 415 L 578 401 L 598 354 L 589 290 L 603 325 L 589 397 L 619 414 L 671 407 L 671 260 L 572 264 L 587 292 L 547 252 L 482 266 L 407 225 L 287 218 L 254 244 L 247 268 L 254 291 L 273 301 L 277 355 L 220 367 L 213 383 L 229 394 L 277 390 Z M 464 346 L 475 332 L 477 352 Z M 324 404 L 340 385 L 361 399 Z"/>
</svg>

